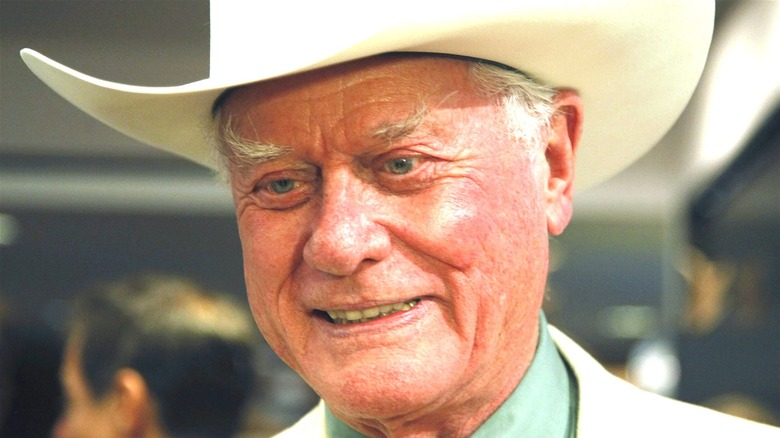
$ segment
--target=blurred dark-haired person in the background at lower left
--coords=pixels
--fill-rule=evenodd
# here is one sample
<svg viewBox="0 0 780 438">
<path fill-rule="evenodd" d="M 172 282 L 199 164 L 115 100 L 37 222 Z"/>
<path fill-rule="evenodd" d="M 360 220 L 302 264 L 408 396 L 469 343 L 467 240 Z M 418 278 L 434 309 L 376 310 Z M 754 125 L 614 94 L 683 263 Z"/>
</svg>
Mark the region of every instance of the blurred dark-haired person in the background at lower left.
<svg viewBox="0 0 780 438">
<path fill-rule="evenodd" d="M 254 390 L 254 326 L 227 296 L 169 275 L 79 294 L 52 435 L 231 437 Z"/>
</svg>

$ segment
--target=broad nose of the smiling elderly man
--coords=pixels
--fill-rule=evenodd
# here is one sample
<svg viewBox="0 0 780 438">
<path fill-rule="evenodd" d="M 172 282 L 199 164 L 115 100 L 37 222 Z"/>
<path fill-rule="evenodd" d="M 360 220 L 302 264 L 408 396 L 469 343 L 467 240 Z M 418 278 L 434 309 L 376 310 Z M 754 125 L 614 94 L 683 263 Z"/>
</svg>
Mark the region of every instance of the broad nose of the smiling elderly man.
<svg viewBox="0 0 780 438">
<path fill-rule="evenodd" d="M 390 236 L 376 221 L 382 194 L 346 172 L 323 183 L 304 261 L 321 272 L 346 276 L 364 263 L 387 257 Z"/>
</svg>

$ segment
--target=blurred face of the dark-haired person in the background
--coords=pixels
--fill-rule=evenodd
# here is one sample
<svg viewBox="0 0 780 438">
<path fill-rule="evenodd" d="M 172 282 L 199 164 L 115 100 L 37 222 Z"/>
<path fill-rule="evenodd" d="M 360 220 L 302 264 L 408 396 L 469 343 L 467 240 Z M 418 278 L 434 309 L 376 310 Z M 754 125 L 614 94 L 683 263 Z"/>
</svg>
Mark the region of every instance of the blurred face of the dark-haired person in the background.
<svg viewBox="0 0 780 438">
<path fill-rule="evenodd" d="M 68 341 L 60 369 L 65 405 L 54 426 L 55 438 L 90 438 L 120 436 L 111 421 L 110 400 L 96 398 L 87 386 L 81 368 L 81 347 Z"/>
</svg>

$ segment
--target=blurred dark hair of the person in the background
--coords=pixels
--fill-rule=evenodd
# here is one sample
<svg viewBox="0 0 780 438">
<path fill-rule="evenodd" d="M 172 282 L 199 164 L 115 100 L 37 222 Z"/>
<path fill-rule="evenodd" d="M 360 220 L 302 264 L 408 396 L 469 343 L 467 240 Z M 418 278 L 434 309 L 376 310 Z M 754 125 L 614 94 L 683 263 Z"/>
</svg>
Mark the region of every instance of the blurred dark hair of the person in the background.
<svg viewBox="0 0 780 438">
<path fill-rule="evenodd" d="M 189 280 L 141 275 L 97 285 L 74 307 L 71 336 L 92 393 L 108 394 L 117 371 L 132 368 L 158 402 L 166 432 L 229 437 L 254 385 L 254 324 L 229 296 Z"/>
</svg>

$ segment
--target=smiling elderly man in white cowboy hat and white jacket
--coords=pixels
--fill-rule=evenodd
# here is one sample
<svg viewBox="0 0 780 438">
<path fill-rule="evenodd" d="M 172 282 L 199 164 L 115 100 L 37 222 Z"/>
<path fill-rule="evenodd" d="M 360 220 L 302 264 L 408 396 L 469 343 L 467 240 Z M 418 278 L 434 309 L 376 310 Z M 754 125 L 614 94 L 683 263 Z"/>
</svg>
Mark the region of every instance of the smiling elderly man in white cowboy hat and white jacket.
<svg viewBox="0 0 780 438">
<path fill-rule="evenodd" d="M 776 434 L 618 381 L 540 310 L 575 155 L 590 186 L 668 129 L 712 3 L 432 3 L 213 2 L 181 87 L 23 57 L 122 132 L 218 150 L 255 320 L 323 399 L 285 436 Z"/>
</svg>

